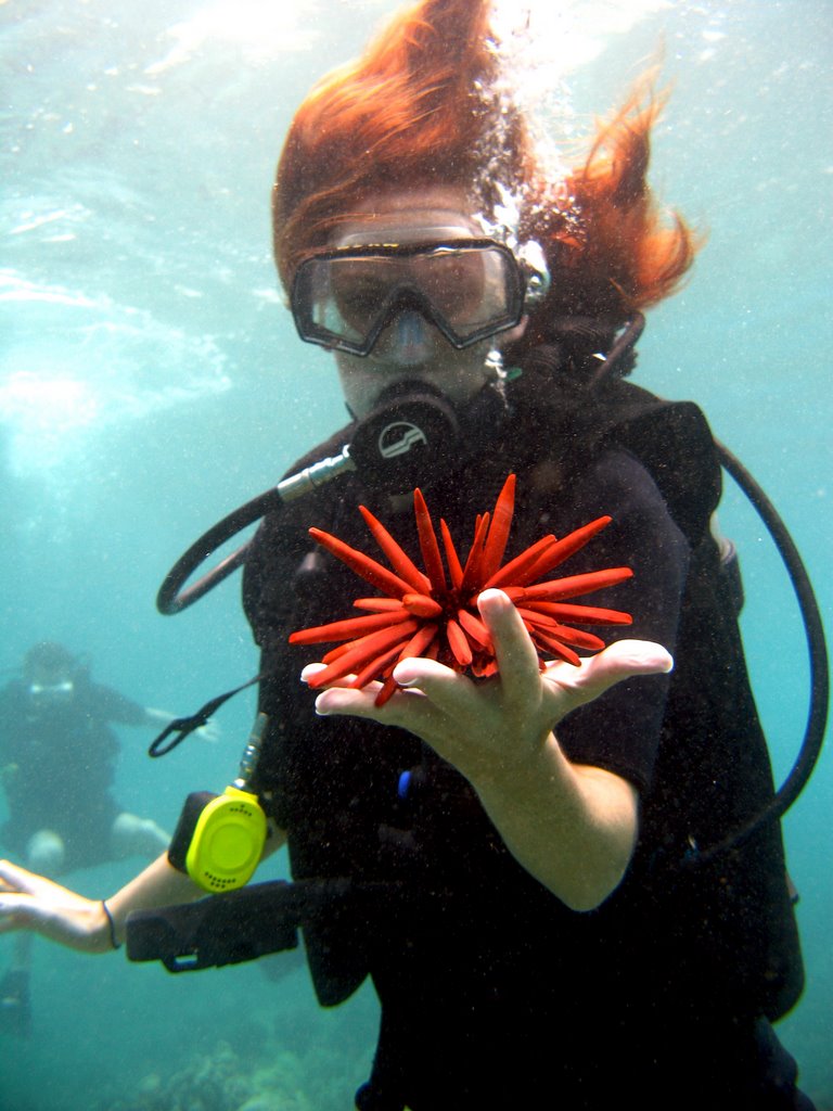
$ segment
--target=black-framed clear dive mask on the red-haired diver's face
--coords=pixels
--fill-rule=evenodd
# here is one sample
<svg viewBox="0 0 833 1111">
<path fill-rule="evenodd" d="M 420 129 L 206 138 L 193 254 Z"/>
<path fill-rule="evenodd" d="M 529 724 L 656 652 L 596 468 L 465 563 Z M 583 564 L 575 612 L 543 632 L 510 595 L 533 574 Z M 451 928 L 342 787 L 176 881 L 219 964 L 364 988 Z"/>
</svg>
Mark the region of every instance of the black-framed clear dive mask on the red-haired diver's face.
<svg viewBox="0 0 833 1111">
<path fill-rule="evenodd" d="M 442 238 L 443 231 L 453 233 Z M 402 364 L 415 366 L 428 342 L 414 340 L 423 321 L 461 350 L 514 328 L 546 292 L 549 273 L 535 243 L 515 253 L 495 239 L 461 238 L 458 229 L 421 232 L 430 240 L 348 243 L 303 259 L 290 294 L 301 339 L 368 356 L 393 323 L 393 342 L 407 341 Z"/>
</svg>

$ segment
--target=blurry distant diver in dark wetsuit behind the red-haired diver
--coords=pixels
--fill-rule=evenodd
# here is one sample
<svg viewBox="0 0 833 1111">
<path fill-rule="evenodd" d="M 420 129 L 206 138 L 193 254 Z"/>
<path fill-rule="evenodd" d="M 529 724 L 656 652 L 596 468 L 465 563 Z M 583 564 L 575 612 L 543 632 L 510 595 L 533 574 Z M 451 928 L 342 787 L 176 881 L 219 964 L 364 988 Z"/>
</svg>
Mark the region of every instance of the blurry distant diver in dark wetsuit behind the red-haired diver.
<svg viewBox="0 0 833 1111">
<path fill-rule="evenodd" d="M 33 644 L 20 677 L 0 691 L 0 780 L 9 811 L 2 843 L 50 877 L 133 855 L 152 860 L 170 835 L 113 799 L 119 743 L 110 723 L 158 727 L 170 719 L 93 682 L 63 644 Z M 12 968 L 0 980 L 0 1032 L 30 1030 L 31 940 L 18 935 Z"/>
</svg>

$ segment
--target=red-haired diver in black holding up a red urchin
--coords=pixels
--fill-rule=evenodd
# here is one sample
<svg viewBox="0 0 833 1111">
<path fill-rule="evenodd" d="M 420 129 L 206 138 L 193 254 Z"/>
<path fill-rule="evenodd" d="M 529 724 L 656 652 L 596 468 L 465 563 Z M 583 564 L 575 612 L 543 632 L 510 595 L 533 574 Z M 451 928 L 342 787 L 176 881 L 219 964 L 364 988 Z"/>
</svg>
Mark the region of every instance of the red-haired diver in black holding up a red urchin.
<svg viewBox="0 0 833 1111">
<path fill-rule="evenodd" d="M 803 985 L 780 825 L 721 850 L 774 789 L 712 532 L 720 460 L 695 406 L 624 380 L 641 311 L 695 254 L 648 184 L 659 110 L 638 88 L 552 180 L 490 4 L 420 0 L 313 88 L 283 147 L 278 271 L 350 423 L 290 472 L 341 452 L 338 478 L 275 504 L 241 559 L 260 725 L 234 790 L 297 888 L 339 893 L 304 948 L 323 1005 L 378 993 L 362 1111 L 812 1108 L 773 1031 Z M 593 598 L 633 615 L 628 639 L 542 667 L 486 588 L 465 621 L 498 673 L 405 653 L 355 687 L 289 643 L 372 592 L 310 526 L 367 551 L 364 506 L 414 556 L 414 487 L 459 543 L 510 474 L 510 560 L 612 518 L 570 573 L 633 571 Z M 116 948 L 129 915 L 205 890 L 178 840 L 100 902 L 0 863 L 0 930 Z"/>
</svg>

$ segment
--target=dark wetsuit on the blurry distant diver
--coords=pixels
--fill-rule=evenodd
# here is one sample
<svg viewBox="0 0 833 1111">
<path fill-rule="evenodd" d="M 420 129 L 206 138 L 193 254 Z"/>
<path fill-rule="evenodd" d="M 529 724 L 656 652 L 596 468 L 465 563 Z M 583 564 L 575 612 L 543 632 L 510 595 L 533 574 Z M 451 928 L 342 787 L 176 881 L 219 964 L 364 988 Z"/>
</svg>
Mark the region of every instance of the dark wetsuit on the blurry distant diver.
<svg viewBox="0 0 833 1111">
<path fill-rule="evenodd" d="M 31 695 L 16 680 L 0 692 L 0 767 L 9 820 L 0 837 L 24 853 L 39 830 L 63 841 L 64 870 L 112 858 L 120 808 L 110 793 L 119 743 L 109 722 L 141 725 L 144 708 L 84 677 L 66 698 Z"/>
</svg>

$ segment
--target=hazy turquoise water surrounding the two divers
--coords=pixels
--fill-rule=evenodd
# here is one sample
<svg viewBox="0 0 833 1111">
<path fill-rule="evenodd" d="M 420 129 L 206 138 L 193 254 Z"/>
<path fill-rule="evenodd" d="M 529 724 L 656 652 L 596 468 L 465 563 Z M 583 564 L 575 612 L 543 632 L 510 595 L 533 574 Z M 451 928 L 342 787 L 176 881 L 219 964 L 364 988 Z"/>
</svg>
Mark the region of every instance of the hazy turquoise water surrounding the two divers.
<svg viewBox="0 0 833 1111">
<path fill-rule="evenodd" d="M 257 671 L 239 575 L 162 618 L 157 589 L 210 524 L 344 421 L 329 358 L 278 292 L 269 191 L 310 84 L 392 0 L 0 0 L 0 671 L 37 640 L 180 714 Z M 672 99 L 652 180 L 706 236 L 685 289 L 649 314 L 634 380 L 706 411 L 779 507 L 823 613 L 831 580 L 833 4 L 510 3 L 526 91 L 585 133 L 661 61 Z M 744 637 L 779 780 L 807 712 L 795 599 L 726 481 Z M 237 773 L 254 694 L 162 761 L 121 729 L 117 797 L 175 824 Z M 0 820 L 4 817 L 0 801 Z M 833 1109 L 833 754 L 784 822 L 807 987 L 779 1031 Z M 69 879 L 100 898 L 137 860 Z M 260 879 L 282 875 L 285 860 Z M 0 972 L 12 941 L 0 938 Z M 363 989 L 322 1011 L 291 957 L 178 977 L 39 941 L 33 1033 L 0 1035 L 17 1111 L 337 1111 L 374 1044 Z"/>
</svg>

